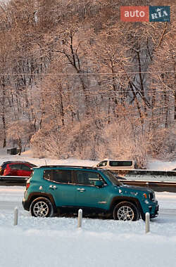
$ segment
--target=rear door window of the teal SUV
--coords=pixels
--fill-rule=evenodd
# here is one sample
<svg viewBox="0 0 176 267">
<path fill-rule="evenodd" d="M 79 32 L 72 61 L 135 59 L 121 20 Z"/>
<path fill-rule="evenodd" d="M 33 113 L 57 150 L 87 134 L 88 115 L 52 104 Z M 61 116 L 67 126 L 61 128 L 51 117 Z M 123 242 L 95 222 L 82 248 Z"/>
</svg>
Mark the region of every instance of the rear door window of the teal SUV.
<svg viewBox="0 0 176 267">
<path fill-rule="evenodd" d="M 72 183 L 72 174 L 71 171 L 62 169 L 45 170 L 44 179 L 56 183 Z"/>
</svg>

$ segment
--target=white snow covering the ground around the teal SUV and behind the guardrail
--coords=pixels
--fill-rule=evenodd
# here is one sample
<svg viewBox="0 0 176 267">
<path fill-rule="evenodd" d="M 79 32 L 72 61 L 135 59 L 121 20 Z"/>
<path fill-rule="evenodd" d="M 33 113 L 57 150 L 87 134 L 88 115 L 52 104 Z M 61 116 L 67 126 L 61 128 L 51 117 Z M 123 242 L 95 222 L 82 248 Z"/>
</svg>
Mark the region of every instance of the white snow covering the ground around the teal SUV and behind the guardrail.
<svg viewBox="0 0 176 267">
<path fill-rule="evenodd" d="M 29 155 L 1 156 L 1 162 L 8 159 L 27 160 L 37 165 L 44 165 L 46 160 L 46 164 L 92 166 L 91 161 L 76 159 L 58 162 Z M 76 217 L 34 218 L 23 210 L 24 190 L 20 186 L 0 186 L 0 267 L 175 266 L 175 193 L 156 193 L 161 212 L 151 220 L 150 233 L 146 234 L 142 220 L 84 218 L 82 228 L 77 228 Z M 13 226 L 16 206 L 18 226 Z"/>
</svg>

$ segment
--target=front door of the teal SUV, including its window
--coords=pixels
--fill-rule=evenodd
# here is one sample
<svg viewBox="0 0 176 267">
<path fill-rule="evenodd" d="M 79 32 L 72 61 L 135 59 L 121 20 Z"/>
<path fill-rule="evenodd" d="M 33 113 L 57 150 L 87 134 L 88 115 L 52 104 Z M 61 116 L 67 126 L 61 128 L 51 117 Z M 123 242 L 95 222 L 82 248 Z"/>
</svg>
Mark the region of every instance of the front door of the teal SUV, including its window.
<svg viewBox="0 0 176 267">
<path fill-rule="evenodd" d="M 75 171 L 77 207 L 106 209 L 108 206 L 108 185 L 98 172 Z M 94 185 L 95 181 L 103 181 L 102 187 Z"/>
</svg>

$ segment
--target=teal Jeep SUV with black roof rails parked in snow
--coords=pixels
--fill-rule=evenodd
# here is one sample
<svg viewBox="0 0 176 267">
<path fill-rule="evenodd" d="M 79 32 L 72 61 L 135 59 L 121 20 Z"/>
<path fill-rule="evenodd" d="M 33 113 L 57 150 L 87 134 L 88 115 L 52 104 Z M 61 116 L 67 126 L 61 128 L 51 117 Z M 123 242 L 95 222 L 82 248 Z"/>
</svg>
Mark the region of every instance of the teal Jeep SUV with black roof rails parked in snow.
<svg viewBox="0 0 176 267">
<path fill-rule="evenodd" d="M 35 217 L 54 214 L 105 214 L 115 220 L 137 221 L 158 216 L 158 201 L 149 188 L 123 185 L 105 169 L 73 166 L 33 168 L 23 207 Z"/>
</svg>

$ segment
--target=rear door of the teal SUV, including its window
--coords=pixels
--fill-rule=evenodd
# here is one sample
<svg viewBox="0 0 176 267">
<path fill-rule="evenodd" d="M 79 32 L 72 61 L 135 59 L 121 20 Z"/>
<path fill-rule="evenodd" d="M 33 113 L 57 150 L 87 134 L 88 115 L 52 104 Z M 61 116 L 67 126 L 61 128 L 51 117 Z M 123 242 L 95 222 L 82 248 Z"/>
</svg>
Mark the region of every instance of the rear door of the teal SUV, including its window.
<svg viewBox="0 0 176 267">
<path fill-rule="evenodd" d="M 75 206 L 75 183 L 72 171 L 65 169 L 49 169 L 44 171 L 46 193 L 54 197 L 57 207 Z"/>
</svg>

